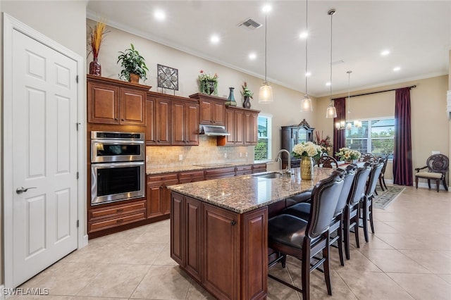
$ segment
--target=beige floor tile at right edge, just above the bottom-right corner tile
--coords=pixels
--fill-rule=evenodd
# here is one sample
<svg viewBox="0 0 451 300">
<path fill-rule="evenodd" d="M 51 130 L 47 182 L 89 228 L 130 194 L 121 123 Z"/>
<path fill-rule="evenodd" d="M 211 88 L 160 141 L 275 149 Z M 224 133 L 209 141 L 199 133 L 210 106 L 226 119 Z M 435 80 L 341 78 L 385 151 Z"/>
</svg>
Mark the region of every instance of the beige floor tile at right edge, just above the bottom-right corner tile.
<svg viewBox="0 0 451 300">
<path fill-rule="evenodd" d="M 435 274 L 451 274 L 451 257 L 440 251 L 400 250 L 405 256 L 412 258 L 420 265 Z"/>
</svg>

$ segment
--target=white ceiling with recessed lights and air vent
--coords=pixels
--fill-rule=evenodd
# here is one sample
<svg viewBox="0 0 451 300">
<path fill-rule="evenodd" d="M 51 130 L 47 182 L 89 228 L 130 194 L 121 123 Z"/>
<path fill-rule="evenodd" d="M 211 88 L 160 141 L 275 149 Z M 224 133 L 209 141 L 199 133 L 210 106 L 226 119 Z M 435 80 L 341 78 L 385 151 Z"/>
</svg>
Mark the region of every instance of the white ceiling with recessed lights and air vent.
<svg viewBox="0 0 451 300">
<path fill-rule="evenodd" d="M 305 1 L 268 1 L 268 81 L 305 91 Z M 264 78 L 264 1 L 88 1 L 87 16 L 189 54 Z M 451 1 L 308 2 L 308 92 L 326 96 L 330 87 L 330 8 L 333 15 L 333 94 L 445 75 L 451 49 Z M 163 22 L 154 11 L 166 12 Z M 219 44 L 209 37 L 217 34 Z M 381 56 L 382 50 L 390 50 Z M 248 54 L 257 54 L 254 61 Z M 340 63 L 340 61 L 343 61 Z M 393 68 L 401 70 L 394 72 Z"/>
</svg>

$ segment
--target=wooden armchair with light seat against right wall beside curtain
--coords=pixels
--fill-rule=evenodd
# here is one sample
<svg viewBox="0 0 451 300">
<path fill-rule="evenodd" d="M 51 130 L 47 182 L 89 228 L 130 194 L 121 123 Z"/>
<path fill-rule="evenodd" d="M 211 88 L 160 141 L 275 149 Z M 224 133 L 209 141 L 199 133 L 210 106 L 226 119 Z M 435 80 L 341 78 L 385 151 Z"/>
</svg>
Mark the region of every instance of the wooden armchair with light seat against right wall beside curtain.
<svg viewBox="0 0 451 300">
<path fill-rule="evenodd" d="M 415 187 L 418 189 L 418 179 L 424 178 L 428 180 L 428 187 L 431 189 L 431 180 L 435 180 L 435 185 L 437 186 L 437 192 L 440 189 L 440 180 L 443 181 L 443 187 L 445 187 L 445 190 L 448 190 L 448 187 L 446 185 L 446 172 L 450 166 L 450 160 L 447 158 L 447 156 L 443 154 L 433 154 L 428 157 L 428 160 L 426 161 L 426 166 L 423 168 L 415 168 Z M 420 172 L 420 170 L 425 170 L 423 172 Z"/>
</svg>

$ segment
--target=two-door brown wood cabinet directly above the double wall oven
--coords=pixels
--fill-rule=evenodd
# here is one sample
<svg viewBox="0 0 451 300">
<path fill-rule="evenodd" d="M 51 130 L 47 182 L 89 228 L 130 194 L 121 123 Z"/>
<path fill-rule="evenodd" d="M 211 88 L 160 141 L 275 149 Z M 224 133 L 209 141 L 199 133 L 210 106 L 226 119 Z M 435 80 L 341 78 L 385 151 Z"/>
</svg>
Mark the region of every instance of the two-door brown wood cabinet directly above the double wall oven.
<svg viewBox="0 0 451 300">
<path fill-rule="evenodd" d="M 146 125 L 146 96 L 151 87 L 86 76 L 89 123 Z"/>
</svg>

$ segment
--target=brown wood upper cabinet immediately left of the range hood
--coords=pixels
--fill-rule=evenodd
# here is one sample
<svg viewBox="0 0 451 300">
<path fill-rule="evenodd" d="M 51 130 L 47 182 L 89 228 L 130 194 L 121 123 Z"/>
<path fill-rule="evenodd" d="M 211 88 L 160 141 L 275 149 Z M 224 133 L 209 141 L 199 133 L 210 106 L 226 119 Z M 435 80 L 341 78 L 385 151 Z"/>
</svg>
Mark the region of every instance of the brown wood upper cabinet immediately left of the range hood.
<svg viewBox="0 0 451 300">
<path fill-rule="evenodd" d="M 179 146 L 199 145 L 199 104 L 194 101 L 172 101 L 172 143 Z"/>
</svg>

